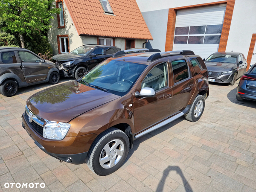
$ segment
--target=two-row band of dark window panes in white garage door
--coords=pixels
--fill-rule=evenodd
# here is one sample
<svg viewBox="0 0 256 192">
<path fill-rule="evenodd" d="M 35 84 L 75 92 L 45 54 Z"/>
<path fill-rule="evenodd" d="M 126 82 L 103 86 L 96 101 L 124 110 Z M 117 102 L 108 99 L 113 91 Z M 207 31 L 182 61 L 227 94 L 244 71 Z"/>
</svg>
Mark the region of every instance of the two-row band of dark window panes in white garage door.
<svg viewBox="0 0 256 192">
<path fill-rule="evenodd" d="M 175 28 L 174 44 L 219 44 L 223 25 Z"/>
</svg>

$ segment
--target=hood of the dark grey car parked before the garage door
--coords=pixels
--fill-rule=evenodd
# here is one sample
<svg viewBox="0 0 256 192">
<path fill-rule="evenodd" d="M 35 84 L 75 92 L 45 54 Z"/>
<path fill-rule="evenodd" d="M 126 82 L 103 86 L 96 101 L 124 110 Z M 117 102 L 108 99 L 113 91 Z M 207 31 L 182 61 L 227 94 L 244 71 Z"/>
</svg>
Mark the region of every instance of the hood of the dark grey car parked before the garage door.
<svg viewBox="0 0 256 192">
<path fill-rule="evenodd" d="M 214 72 L 230 71 L 237 68 L 237 65 L 233 63 L 205 62 L 205 65 L 208 71 Z"/>
</svg>

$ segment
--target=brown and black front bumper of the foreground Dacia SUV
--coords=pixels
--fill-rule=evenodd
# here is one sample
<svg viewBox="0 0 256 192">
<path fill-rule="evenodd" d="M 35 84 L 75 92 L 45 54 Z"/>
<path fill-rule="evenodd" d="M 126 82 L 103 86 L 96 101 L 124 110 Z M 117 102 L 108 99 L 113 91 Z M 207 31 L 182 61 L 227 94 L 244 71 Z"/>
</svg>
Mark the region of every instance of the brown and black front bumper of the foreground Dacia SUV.
<svg viewBox="0 0 256 192">
<path fill-rule="evenodd" d="M 85 160 L 90 148 L 88 141 L 96 137 L 95 134 L 87 134 L 79 137 L 65 137 L 63 140 L 48 140 L 33 130 L 24 118 L 24 114 L 22 115 L 22 127 L 45 153 L 72 164 L 86 163 Z"/>
</svg>

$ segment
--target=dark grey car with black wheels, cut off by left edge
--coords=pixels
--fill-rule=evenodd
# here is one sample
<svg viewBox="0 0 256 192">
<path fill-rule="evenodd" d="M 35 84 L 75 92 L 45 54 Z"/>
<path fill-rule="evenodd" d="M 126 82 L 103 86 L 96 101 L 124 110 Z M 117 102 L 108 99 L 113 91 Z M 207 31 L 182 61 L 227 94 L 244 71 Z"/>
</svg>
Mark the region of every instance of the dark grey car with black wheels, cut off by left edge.
<svg viewBox="0 0 256 192">
<path fill-rule="evenodd" d="M 59 71 L 55 64 L 46 61 L 24 48 L 0 47 L 0 93 L 10 97 L 18 87 L 48 82 L 56 84 Z"/>
</svg>

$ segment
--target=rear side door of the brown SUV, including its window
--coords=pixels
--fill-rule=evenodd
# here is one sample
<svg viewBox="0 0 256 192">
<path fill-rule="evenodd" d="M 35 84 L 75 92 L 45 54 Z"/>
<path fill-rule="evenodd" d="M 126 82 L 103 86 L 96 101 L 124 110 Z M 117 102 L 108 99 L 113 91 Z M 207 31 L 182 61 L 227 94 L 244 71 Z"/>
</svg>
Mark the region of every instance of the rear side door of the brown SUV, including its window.
<svg viewBox="0 0 256 192">
<path fill-rule="evenodd" d="M 195 89 L 195 79 L 191 73 L 191 64 L 184 58 L 170 61 L 172 67 L 172 108 L 170 116 L 183 111 L 189 104 Z"/>
</svg>

